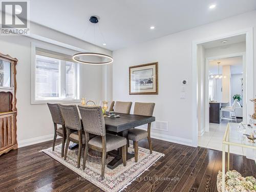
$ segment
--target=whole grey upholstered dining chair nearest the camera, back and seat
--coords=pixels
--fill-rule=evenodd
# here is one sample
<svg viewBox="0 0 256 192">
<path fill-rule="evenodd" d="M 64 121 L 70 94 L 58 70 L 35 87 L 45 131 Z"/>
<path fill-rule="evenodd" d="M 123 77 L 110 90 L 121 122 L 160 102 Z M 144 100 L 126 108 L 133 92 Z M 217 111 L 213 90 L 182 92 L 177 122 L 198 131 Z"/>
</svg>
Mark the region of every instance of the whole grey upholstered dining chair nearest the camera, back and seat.
<svg viewBox="0 0 256 192">
<path fill-rule="evenodd" d="M 86 133 L 86 147 L 83 155 L 82 168 L 85 169 L 89 148 L 102 153 L 101 177 L 104 178 L 106 153 L 122 147 L 123 166 L 126 166 L 126 138 L 117 135 L 106 134 L 105 120 L 101 106 L 78 105 Z M 89 138 L 89 134 L 96 137 Z"/>
</svg>

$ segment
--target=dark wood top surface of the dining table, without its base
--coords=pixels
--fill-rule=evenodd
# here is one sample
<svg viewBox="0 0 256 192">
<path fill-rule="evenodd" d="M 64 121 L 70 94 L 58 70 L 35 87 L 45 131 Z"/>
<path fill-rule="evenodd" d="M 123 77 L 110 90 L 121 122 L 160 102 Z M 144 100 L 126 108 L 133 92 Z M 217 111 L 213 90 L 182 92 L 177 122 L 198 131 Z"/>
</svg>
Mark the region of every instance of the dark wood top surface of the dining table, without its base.
<svg viewBox="0 0 256 192">
<path fill-rule="evenodd" d="M 129 130 L 136 126 L 140 126 L 155 121 L 155 117 L 151 116 L 132 115 L 123 113 L 116 113 L 116 115 L 120 115 L 120 118 L 105 117 L 106 130 L 119 133 L 125 130 Z"/>
</svg>

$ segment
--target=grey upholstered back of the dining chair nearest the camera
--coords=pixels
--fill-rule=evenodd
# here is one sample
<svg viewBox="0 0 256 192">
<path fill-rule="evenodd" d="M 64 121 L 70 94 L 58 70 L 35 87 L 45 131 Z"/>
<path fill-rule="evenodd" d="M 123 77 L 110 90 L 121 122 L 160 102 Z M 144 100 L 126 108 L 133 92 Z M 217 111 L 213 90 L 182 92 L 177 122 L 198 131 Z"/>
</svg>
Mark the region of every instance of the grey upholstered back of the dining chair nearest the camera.
<svg viewBox="0 0 256 192">
<path fill-rule="evenodd" d="M 101 106 L 78 105 L 82 117 L 83 129 L 85 132 L 105 136 L 105 120 Z"/>
</svg>

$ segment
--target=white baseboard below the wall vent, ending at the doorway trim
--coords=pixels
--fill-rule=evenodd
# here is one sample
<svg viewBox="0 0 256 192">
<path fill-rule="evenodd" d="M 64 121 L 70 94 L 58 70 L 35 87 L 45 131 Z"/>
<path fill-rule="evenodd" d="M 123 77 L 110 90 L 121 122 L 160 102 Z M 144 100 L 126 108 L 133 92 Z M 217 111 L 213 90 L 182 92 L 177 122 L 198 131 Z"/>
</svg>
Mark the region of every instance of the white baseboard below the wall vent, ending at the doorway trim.
<svg viewBox="0 0 256 192">
<path fill-rule="evenodd" d="M 184 139 L 181 137 L 174 137 L 174 136 L 162 135 L 162 134 L 151 132 L 151 138 L 168 141 L 172 143 L 178 143 L 178 144 L 187 145 L 187 146 L 192 146 L 192 140 Z"/>
</svg>

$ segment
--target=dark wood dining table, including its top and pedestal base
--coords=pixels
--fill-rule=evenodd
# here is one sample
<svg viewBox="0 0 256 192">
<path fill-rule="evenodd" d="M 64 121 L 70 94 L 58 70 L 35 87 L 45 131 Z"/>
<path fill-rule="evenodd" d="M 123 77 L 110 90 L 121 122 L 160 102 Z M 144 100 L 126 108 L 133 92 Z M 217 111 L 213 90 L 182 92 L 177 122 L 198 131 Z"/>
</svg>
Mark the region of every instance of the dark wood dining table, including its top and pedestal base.
<svg viewBox="0 0 256 192">
<path fill-rule="evenodd" d="M 104 117 L 105 120 L 105 129 L 107 133 L 116 134 L 127 139 L 128 131 L 134 127 L 144 125 L 147 123 L 152 123 L 156 119 L 153 116 L 144 116 L 144 115 L 133 115 L 133 114 L 123 114 L 115 113 L 119 115 L 119 118 L 109 118 Z M 108 113 L 107 113 L 108 115 Z M 69 146 L 71 150 L 77 147 L 77 144 Z M 134 153 L 131 153 L 127 150 L 126 160 L 129 160 L 134 157 Z M 108 152 L 108 155 L 114 157 L 112 161 L 108 163 L 108 168 L 114 169 L 118 165 L 122 164 L 122 151 L 121 148 Z"/>
</svg>

